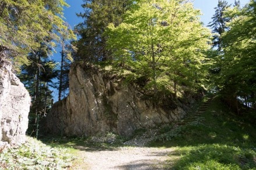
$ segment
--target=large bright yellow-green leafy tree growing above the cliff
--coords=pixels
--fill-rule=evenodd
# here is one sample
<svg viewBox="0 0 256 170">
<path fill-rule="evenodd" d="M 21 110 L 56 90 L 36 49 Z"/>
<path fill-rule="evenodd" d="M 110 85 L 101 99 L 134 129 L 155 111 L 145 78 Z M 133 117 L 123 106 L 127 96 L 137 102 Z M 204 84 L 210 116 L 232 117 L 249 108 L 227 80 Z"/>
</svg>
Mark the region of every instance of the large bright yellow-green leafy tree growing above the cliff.
<svg viewBox="0 0 256 170">
<path fill-rule="evenodd" d="M 123 22 L 109 24 L 105 32 L 113 62 L 146 77 L 155 100 L 158 88 L 167 88 L 170 81 L 175 93 L 177 83 L 197 86 L 211 35 L 199 15 L 186 1 L 133 1 Z"/>
</svg>

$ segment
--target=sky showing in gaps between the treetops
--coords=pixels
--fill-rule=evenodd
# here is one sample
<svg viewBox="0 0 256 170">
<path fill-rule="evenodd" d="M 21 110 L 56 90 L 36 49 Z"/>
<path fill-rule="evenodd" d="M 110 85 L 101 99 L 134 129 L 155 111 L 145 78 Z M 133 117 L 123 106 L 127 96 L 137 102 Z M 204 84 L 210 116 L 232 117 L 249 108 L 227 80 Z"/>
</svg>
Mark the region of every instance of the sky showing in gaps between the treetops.
<svg viewBox="0 0 256 170">
<path fill-rule="evenodd" d="M 115 1 L 115 0 L 113 0 Z M 211 21 L 211 17 L 214 15 L 215 7 L 218 4 L 218 0 L 193 0 L 194 8 L 200 9 L 202 12 L 201 20 L 207 25 Z M 234 3 L 234 0 L 226 0 L 228 3 Z M 66 2 L 70 5 L 70 8 L 65 9 L 65 17 L 66 21 L 72 26 L 72 28 L 80 23 L 81 20 L 76 16 L 76 13 L 83 12 L 83 8 L 81 8 L 81 4 L 83 4 L 83 0 L 66 0 Z M 244 6 L 249 0 L 240 0 L 241 5 Z"/>
</svg>

